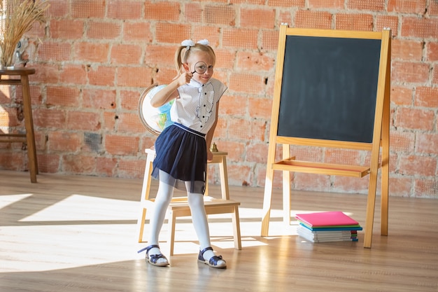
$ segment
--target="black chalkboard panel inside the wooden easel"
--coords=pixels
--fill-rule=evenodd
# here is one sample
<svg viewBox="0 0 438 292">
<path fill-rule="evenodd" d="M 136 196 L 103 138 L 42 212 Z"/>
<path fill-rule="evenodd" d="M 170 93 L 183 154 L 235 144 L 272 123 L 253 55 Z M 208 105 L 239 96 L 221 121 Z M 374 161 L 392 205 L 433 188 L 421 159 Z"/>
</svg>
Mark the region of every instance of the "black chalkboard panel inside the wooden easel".
<svg viewBox="0 0 438 292">
<path fill-rule="evenodd" d="M 371 143 L 381 39 L 286 36 L 281 137 Z"/>
</svg>

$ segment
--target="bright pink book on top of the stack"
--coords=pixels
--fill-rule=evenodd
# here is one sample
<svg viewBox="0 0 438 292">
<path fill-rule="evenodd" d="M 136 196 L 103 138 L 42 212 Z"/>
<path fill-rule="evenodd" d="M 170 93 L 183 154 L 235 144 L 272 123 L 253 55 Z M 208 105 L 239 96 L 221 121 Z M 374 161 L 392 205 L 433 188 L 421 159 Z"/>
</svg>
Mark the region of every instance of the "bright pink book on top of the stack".
<svg viewBox="0 0 438 292">
<path fill-rule="evenodd" d="M 310 227 L 359 225 L 358 221 L 355 221 L 353 218 L 347 216 L 341 211 L 297 214 L 295 218 L 306 223 L 306 225 L 309 225 Z"/>
</svg>

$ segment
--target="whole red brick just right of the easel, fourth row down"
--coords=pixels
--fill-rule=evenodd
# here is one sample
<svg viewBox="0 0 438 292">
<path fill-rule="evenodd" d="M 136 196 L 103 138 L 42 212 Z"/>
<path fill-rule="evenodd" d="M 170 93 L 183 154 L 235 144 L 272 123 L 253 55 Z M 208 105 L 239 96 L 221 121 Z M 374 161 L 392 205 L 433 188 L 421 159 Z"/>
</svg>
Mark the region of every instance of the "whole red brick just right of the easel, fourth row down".
<svg viewBox="0 0 438 292">
<path fill-rule="evenodd" d="M 429 79 L 429 64 L 420 62 L 393 62 L 391 78 L 400 83 L 425 83 Z"/>
</svg>

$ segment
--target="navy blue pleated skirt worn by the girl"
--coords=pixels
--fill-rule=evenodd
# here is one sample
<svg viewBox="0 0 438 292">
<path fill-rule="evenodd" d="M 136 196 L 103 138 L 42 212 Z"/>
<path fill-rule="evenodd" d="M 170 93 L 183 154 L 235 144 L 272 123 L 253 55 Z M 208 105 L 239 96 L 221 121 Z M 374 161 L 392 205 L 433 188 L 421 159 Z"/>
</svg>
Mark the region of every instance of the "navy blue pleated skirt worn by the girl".
<svg viewBox="0 0 438 292">
<path fill-rule="evenodd" d="M 205 134 L 174 123 L 166 127 L 155 141 L 152 176 L 190 193 L 205 191 L 207 149 Z M 160 170 L 174 180 L 160 178 Z M 185 186 L 190 182 L 190 189 Z"/>
</svg>

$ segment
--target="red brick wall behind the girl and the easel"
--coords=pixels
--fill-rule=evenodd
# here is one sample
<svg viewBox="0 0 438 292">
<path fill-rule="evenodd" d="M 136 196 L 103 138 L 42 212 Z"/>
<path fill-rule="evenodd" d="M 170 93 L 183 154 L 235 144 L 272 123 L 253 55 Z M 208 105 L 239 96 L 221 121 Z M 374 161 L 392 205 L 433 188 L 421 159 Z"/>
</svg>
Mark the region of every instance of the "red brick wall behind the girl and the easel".
<svg viewBox="0 0 438 292">
<path fill-rule="evenodd" d="M 137 102 L 174 77 L 183 39 L 216 49 L 222 98 L 214 141 L 232 185 L 264 186 L 278 27 L 393 31 L 390 195 L 438 198 L 437 0 L 50 0 L 27 34 L 38 167 L 42 173 L 141 178 Z M 1 88 L 1 130 L 20 131 L 20 90 Z M 369 160 L 367 153 L 295 148 L 299 159 Z M 22 145 L 0 144 L 2 169 L 27 169 Z M 276 173 L 275 186 L 281 186 Z M 209 179 L 218 182 L 211 167 Z M 368 179 L 292 174 L 297 189 L 367 193 Z M 379 186 L 378 186 L 379 190 Z"/>
</svg>

